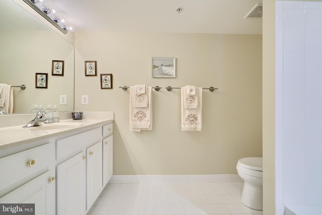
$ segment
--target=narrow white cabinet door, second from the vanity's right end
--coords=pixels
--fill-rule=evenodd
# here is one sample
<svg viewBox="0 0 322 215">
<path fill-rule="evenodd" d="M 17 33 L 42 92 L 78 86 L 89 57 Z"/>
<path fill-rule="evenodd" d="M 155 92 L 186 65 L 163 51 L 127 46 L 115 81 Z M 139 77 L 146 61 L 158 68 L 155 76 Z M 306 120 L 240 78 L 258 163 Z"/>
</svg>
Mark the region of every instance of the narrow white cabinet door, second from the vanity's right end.
<svg viewBox="0 0 322 215">
<path fill-rule="evenodd" d="M 87 209 L 89 210 L 103 187 L 102 143 L 98 142 L 86 150 L 87 154 Z"/>
</svg>

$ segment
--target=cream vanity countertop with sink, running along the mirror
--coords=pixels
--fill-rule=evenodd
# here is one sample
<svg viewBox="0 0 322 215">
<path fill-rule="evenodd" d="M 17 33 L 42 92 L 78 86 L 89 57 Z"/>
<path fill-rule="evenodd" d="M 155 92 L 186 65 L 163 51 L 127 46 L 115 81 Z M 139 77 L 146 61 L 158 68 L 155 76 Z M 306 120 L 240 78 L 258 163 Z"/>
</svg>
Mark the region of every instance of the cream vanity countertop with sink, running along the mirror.
<svg viewBox="0 0 322 215">
<path fill-rule="evenodd" d="M 90 126 L 100 124 L 100 123 L 111 123 L 114 117 L 93 117 L 93 118 L 83 118 L 82 120 L 66 119 L 60 120 L 59 123 L 82 123 L 82 126 L 78 127 L 64 127 L 49 130 L 33 130 L 29 128 L 24 128 L 22 125 L 2 127 L 0 128 L 0 150 L 7 149 L 13 146 L 23 145 L 25 142 L 37 141 L 43 138 L 50 138 L 55 135 L 64 134 L 67 132 L 72 132 L 76 130 L 81 130 L 83 128 L 88 128 Z M 59 124 L 51 123 L 49 125 Z M 46 125 L 44 125 L 46 126 Z"/>
</svg>

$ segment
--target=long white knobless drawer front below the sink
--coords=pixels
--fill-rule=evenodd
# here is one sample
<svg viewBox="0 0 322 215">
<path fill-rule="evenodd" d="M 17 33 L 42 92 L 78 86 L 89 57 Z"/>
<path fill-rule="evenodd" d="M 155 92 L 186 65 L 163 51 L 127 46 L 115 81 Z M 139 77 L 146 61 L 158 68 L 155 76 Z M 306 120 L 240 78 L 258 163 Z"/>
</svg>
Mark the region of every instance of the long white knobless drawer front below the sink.
<svg viewBox="0 0 322 215">
<path fill-rule="evenodd" d="M 68 155 L 72 156 L 78 153 L 79 150 L 87 146 L 95 144 L 102 137 L 102 128 L 95 128 L 83 133 L 68 136 L 63 139 L 58 139 L 56 142 L 56 159 L 62 159 Z"/>
</svg>

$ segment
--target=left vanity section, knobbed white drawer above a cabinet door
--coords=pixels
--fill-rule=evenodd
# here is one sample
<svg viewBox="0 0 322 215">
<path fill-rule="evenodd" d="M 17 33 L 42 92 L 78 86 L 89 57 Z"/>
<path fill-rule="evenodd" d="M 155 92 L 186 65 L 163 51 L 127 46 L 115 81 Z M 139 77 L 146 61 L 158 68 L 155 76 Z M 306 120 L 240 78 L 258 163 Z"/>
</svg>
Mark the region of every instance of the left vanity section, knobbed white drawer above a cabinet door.
<svg viewBox="0 0 322 215">
<path fill-rule="evenodd" d="M 48 143 L 0 159 L 1 203 L 34 203 L 35 214 L 56 214 L 54 144 Z"/>
</svg>

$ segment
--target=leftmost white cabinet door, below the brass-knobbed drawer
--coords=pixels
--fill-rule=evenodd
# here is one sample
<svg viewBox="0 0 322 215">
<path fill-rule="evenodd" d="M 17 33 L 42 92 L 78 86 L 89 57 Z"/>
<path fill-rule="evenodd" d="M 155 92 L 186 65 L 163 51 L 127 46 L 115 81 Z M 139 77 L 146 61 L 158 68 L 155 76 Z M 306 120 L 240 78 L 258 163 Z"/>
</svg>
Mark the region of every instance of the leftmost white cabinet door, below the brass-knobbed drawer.
<svg viewBox="0 0 322 215">
<path fill-rule="evenodd" d="M 0 198 L 1 203 L 34 203 L 36 215 L 56 214 L 55 172 L 47 171 Z"/>
</svg>

